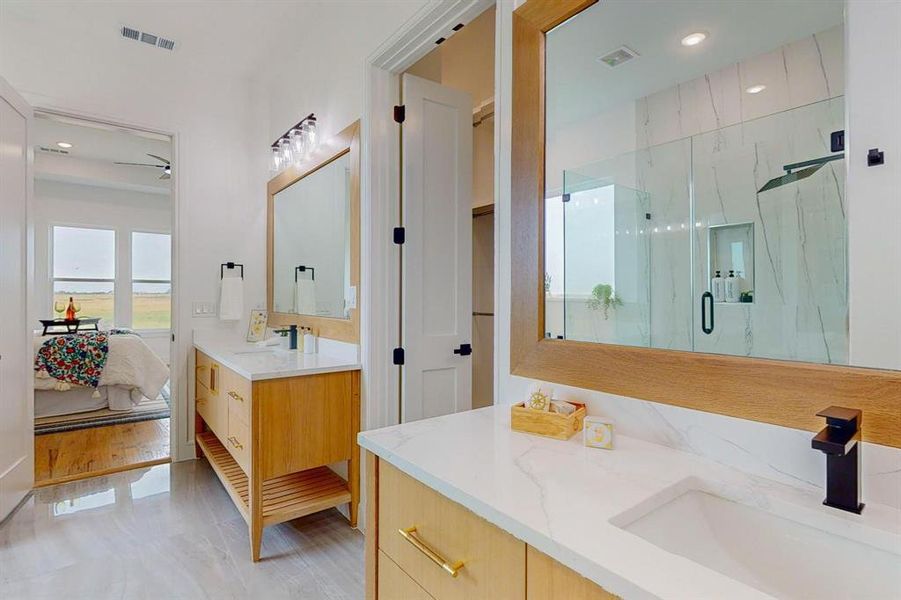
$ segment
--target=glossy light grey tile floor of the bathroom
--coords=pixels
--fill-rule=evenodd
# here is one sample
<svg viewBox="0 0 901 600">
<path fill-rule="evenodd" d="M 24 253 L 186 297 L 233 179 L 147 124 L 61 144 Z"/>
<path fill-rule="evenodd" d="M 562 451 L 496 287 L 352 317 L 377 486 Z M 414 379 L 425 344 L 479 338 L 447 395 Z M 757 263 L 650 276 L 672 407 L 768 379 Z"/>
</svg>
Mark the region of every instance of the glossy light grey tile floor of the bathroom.
<svg viewBox="0 0 901 600">
<path fill-rule="evenodd" d="M 38 489 L 0 525 L 0 598 L 363 597 L 363 536 L 336 510 L 247 526 L 205 460 Z"/>
</svg>

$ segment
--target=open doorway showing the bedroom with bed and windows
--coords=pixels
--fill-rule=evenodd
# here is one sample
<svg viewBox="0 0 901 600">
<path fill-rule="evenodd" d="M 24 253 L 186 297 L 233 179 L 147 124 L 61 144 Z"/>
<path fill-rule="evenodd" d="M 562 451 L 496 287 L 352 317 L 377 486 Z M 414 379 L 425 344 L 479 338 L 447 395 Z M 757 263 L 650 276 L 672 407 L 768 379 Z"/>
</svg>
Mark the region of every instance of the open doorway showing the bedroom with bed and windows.
<svg viewBox="0 0 901 600">
<path fill-rule="evenodd" d="M 35 484 L 166 462 L 172 140 L 34 121 Z"/>
</svg>

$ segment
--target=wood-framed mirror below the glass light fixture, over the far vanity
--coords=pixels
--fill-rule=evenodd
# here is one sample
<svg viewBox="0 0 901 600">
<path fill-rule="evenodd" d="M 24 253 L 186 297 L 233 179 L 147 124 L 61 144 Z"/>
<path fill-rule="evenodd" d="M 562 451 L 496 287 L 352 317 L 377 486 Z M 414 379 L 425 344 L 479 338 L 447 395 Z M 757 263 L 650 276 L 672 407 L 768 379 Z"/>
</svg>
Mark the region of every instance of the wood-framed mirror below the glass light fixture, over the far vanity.
<svg viewBox="0 0 901 600">
<path fill-rule="evenodd" d="M 360 341 L 360 122 L 269 181 L 269 323 Z"/>
</svg>

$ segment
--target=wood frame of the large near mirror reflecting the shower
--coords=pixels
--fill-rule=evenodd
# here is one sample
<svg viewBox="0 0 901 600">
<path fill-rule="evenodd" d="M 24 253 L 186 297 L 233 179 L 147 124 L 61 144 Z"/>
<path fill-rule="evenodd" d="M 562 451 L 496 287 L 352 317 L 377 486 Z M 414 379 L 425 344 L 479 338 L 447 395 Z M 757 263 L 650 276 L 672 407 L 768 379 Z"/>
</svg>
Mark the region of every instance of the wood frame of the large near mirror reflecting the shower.
<svg viewBox="0 0 901 600">
<path fill-rule="evenodd" d="M 513 13 L 511 373 L 808 431 L 830 405 L 858 408 L 864 440 L 901 447 L 901 371 L 545 339 L 545 34 L 595 2 Z"/>
</svg>

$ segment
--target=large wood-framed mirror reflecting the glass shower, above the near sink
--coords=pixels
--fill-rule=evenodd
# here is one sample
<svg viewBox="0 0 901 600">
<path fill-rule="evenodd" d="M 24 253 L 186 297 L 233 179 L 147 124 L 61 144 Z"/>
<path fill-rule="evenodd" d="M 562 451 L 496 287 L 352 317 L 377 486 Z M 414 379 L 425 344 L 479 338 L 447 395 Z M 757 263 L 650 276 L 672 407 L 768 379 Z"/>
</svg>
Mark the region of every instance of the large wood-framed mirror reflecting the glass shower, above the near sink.
<svg viewBox="0 0 901 600">
<path fill-rule="evenodd" d="M 514 11 L 511 371 L 901 446 L 901 372 L 849 358 L 843 3 L 694 4 Z"/>
</svg>

